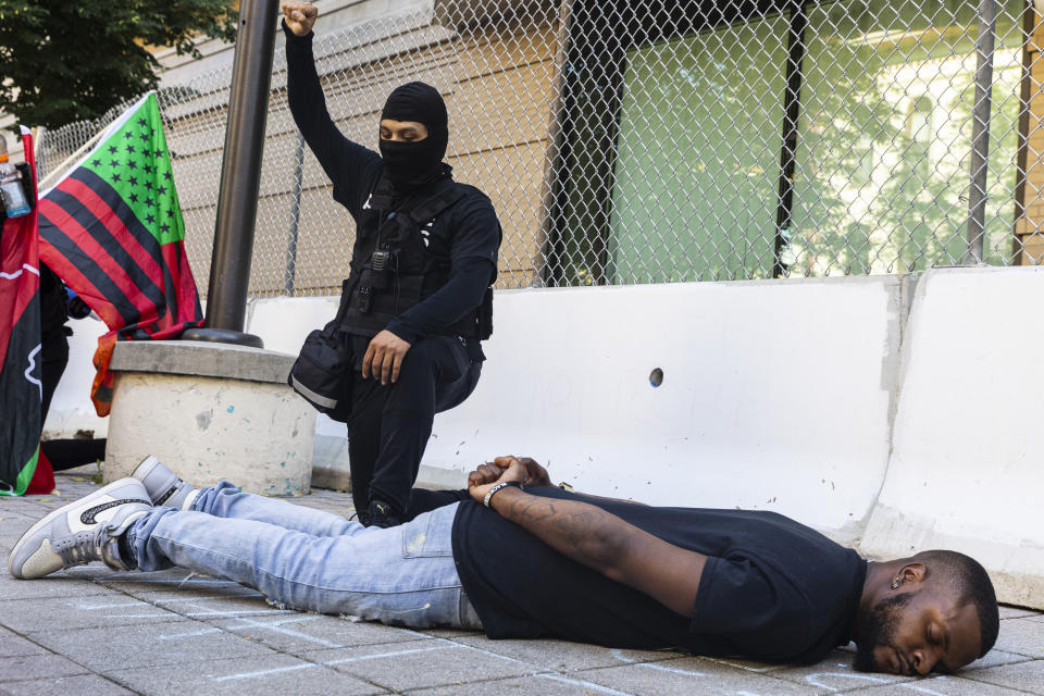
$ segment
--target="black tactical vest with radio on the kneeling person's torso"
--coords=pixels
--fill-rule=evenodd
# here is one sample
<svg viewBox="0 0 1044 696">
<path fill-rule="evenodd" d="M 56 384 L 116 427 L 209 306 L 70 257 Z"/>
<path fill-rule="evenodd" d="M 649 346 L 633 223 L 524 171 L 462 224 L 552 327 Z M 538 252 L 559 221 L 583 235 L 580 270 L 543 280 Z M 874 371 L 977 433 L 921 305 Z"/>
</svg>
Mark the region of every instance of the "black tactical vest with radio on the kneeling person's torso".
<svg viewBox="0 0 1044 696">
<path fill-rule="evenodd" d="M 464 187 L 443 179 L 410 196 L 397 210 L 375 210 L 360 220 L 351 254 L 351 273 L 341 302 L 343 326 L 374 336 L 388 323 L 449 281 L 450 259 L 424 246 L 421 226 L 452 207 Z M 383 197 L 374 195 L 371 200 Z M 376 206 L 375 206 L 376 208 Z M 440 334 L 485 340 L 493 333 L 493 288 L 482 304 Z"/>
</svg>

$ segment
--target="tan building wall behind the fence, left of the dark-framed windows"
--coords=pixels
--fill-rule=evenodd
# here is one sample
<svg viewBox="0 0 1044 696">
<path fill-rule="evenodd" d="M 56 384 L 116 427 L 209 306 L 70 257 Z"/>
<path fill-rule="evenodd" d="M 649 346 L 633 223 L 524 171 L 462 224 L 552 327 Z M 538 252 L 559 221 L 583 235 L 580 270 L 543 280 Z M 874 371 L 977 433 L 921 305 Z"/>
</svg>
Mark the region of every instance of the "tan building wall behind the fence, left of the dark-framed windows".
<svg viewBox="0 0 1044 696">
<path fill-rule="evenodd" d="M 358 7 L 358 5 L 353 5 Z M 493 200 L 505 228 L 500 286 L 526 285 L 535 277 L 543 223 L 542 186 L 548 147 L 554 82 L 555 26 L 547 21 L 499 21 L 460 29 L 437 24 L 425 8 L 357 38 L 325 38 L 345 27 L 321 13 L 315 59 L 327 108 L 348 138 L 376 149 L 376 124 L 387 94 L 419 79 L 443 92 L 450 117 L 447 161 L 458 181 L 477 186 Z M 331 198 L 332 186 L 310 152 L 299 150 L 297 128 L 286 103 L 282 32 L 262 171 L 250 294 L 298 295 L 336 291 L 348 274 L 355 224 Z M 206 59 L 208 72 L 226 58 Z M 188 233 L 187 250 L 197 282 L 207 282 L 216 211 L 216 190 L 227 116 L 227 80 L 200 79 L 186 66 L 164 76 L 167 85 L 190 84 L 191 95 L 163 104 L 167 142 L 175 158 L 178 197 Z M 181 74 L 178 74 L 181 72 Z M 189 83 L 178 79 L 189 78 Z M 167 98 L 170 99 L 170 98 Z M 297 161 L 303 156 L 301 190 Z M 285 165 L 275 164 L 284 162 Z M 299 212 L 295 201 L 299 199 Z M 295 223 L 296 220 L 296 223 Z M 296 229 L 294 276 L 287 277 L 287 240 Z"/>
</svg>

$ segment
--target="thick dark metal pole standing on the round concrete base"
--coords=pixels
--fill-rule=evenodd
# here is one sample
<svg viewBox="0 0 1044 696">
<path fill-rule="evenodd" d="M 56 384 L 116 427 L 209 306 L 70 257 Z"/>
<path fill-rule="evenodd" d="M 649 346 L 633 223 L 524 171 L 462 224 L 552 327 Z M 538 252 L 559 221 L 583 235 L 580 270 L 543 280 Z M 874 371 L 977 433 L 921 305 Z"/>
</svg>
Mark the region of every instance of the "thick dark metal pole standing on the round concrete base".
<svg viewBox="0 0 1044 696">
<path fill-rule="evenodd" d="M 243 331 L 247 313 L 277 9 L 278 0 L 244 0 L 240 5 L 207 294 L 207 326 L 229 333 Z"/>
</svg>

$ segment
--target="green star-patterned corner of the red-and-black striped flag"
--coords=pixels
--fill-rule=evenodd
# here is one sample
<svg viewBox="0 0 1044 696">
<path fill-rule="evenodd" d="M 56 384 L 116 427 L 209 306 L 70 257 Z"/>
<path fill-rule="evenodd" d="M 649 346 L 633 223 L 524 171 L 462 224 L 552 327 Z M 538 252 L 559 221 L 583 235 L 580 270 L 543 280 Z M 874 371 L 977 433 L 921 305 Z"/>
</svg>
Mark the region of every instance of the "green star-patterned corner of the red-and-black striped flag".
<svg viewBox="0 0 1044 696">
<path fill-rule="evenodd" d="M 145 110 L 145 107 L 142 107 Z M 159 112 L 145 111 L 128 119 L 84 165 L 108 182 L 135 216 L 161 244 L 181 238 L 181 214 L 173 190 L 171 157 L 163 139 Z M 153 123 L 154 121 L 154 123 Z"/>
</svg>

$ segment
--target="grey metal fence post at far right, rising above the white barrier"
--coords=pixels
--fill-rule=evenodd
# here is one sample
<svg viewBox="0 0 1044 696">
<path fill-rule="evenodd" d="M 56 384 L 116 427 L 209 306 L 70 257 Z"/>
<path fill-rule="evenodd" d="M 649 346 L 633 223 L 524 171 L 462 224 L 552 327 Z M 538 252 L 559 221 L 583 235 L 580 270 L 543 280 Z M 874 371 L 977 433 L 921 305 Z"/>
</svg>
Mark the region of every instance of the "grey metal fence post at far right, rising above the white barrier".
<svg viewBox="0 0 1044 696">
<path fill-rule="evenodd" d="M 990 173 L 990 111 L 996 24 L 996 0 L 981 0 L 979 3 L 979 35 L 975 37 L 975 101 L 971 110 L 971 188 L 968 194 L 966 265 L 982 263 L 985 243 L 986 174 Z"/>
</svg>

